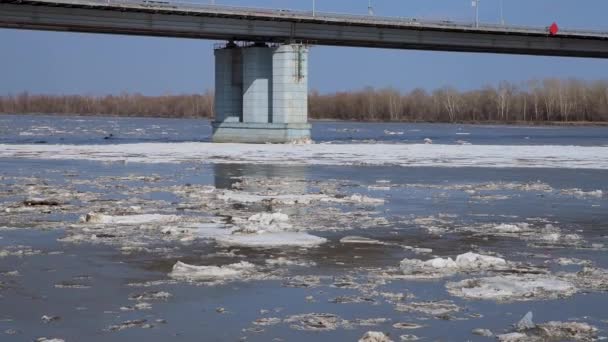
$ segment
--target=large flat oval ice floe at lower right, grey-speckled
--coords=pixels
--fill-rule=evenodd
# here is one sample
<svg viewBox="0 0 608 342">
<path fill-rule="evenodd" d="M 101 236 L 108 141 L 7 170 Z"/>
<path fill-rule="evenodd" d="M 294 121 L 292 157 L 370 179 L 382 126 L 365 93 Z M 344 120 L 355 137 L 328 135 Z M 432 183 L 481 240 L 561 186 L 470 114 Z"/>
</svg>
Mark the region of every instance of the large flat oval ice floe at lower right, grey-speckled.
<svg viewBox="0 0 608 342">
<path fill-rule="evenodd" d="M 448 282 L 448 292 L 470 299 L 526 301 L 568 297 L 577 292 L 570 282 L 548 275 L 506 275 Z"/>
</svg>

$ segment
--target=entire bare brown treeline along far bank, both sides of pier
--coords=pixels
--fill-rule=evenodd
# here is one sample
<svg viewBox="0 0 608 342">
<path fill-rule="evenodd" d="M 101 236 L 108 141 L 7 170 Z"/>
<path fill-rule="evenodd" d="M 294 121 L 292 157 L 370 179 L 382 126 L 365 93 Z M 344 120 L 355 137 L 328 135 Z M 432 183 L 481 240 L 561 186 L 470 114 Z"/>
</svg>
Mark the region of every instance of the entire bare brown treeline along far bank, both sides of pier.
<svg viewBox="0 0 608 342">
<path fill-rule="evenodd" d="M 0 112 L 210 118 L 213 93 L 102 97 L 22 93 L 1 96 Z M 546 79 L 525 85 L 501 82 L 497 87 L 472 91 L 451 87 L 408 93 L 390 88 L 333 94 L 312 91 L 309 113 L 314 119 L 360 121 L 608 121 L 608 81 Z"/>
</svg>

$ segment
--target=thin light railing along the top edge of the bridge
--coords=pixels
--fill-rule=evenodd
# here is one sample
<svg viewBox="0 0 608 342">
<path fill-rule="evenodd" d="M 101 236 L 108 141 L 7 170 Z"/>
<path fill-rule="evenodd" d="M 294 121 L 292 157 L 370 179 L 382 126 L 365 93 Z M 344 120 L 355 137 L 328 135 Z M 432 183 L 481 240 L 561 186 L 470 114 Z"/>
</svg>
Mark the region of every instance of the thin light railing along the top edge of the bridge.
<svg viewBox="0 0 608 342">
<path fill-rule="evenodd" d="M 367 25 L 397 25 L 404 27 L 449 28 L 470 31 L 511 32 L 528 34 L 545 34 L 545 27 L 532 27 L 520 25 L 500 25 L 492 23 L 454 21 L 454 20 L 428 20 L 408 17 L 387 17 L 376 15 L 361 15 L 339 12 L 303 11 L 291 9 L 270 9 L 263 7 L 245 7 L 231 5 L 215 5 L 185 1 L 163 0 L 38 0 L 38 2 L 65 3 L 65 4 L 96 4 L 100 6 L 119 6 L 130 8 L 152 8 L 158 10 L 181 10 L 204 12 L 213 14 L 250 15 L 262 17 L 283 17 L 300 20 L 317 20 L 337 23 L 361 23 Z M 561 34 L 575 36 L 606 37 L 608 32 L 602 30 L 562 29 Z"/>
</svg>

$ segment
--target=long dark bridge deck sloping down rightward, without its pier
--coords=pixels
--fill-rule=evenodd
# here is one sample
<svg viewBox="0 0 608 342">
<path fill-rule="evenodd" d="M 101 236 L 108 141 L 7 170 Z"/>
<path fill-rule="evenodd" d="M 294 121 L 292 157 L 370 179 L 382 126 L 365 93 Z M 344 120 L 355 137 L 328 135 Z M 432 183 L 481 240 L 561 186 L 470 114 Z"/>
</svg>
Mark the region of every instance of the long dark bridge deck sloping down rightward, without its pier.
<svg viewBox="0 0 608 342">
<path fill-rule="evenodd" d="M 608 58 L 608 32 L 150 0 L 0 0 L 0 27 Z"/>
</svg>

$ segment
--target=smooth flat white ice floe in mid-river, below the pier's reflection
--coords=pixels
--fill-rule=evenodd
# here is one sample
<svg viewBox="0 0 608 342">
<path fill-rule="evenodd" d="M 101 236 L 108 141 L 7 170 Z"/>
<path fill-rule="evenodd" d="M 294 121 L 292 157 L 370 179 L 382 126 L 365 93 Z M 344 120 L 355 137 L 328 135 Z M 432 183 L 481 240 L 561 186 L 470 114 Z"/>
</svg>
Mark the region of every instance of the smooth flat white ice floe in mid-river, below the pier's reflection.
<svg viewBox="0 0 608 342">
<path fill-rule="evenodd" d="M 279 247 L 317 247 L 327 242 L 327 239 L 300 232 L 270 232 L 262 234 L 242 234 L 218 236 L 215 239 L 226 246 L 279 248 Z"/>
</svg>

